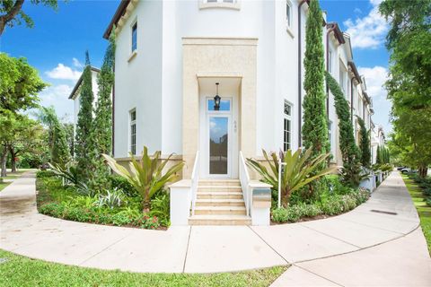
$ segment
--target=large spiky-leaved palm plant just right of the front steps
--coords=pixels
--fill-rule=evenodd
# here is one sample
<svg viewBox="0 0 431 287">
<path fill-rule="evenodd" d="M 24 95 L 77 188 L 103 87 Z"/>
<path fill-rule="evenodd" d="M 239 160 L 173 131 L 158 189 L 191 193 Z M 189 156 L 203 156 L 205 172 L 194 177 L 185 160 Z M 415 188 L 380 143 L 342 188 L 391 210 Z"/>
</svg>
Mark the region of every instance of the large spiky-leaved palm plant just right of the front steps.
<svg viewBox="0 0 431 287">
<path fill-rule="evenodd" d="M 262 177 L 261 181 L 268 183 L 273 189 L 278 188 L 278 157 L 276 152 L 270 153 L 270 158 L 265 150 L 262 150 L 265 161 L 268 163 L 269 170 L 259 161 L 247 159 L 247 164 L 256 170 Z M 321 163 L 330 157 L 330 153 L 325 153 L 317 156 L 315 159 L 310 159 L 312 148 L 305 150 L 298 149 L 296 152 L 288 150 L 280 152 L 279 158 L 285 164 L 281 175 L 281 200 L 284 206 L 289 203 L 292 193 L 301 187 L 309 184 L 315 179 L 321 178 L 335 170 L 335 168 L 327 168 L 320 170 Z"/>
</svg>

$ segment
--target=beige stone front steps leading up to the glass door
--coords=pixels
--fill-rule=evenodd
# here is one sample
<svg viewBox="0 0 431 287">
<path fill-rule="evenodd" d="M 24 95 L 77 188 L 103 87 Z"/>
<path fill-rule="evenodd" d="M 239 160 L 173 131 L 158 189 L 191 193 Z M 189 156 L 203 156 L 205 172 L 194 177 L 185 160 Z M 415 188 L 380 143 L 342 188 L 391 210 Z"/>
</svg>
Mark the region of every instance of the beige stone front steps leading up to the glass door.
<svg viewBox="0 0 431 287">
<path fill-rule="evenodd" d="M 201 179 L 189 225 L 250 225 L 238 179 Z"/>
</svg>

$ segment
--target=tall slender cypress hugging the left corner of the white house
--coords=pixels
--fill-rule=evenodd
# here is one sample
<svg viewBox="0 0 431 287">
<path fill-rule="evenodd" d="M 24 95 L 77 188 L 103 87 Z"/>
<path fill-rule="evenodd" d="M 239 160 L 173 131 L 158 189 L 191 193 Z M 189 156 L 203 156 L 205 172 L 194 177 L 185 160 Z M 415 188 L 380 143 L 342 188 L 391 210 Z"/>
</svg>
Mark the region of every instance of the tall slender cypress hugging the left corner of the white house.
<svg viewBox="0 0 431 287">
<path fill-rule="evenodd" d="M 112 154 L 112 102 L 110 99 L 114 84 L 115 38 L 112 34 L 110 45 L 106 49 L 101 72 L 97 75 L 99 86 L 92 136 L 94 150 L 92 152 L 93 168 L 92 188 L 107 188 L 110 168 L 105 165 L 101 153 Z"/>
</svg>

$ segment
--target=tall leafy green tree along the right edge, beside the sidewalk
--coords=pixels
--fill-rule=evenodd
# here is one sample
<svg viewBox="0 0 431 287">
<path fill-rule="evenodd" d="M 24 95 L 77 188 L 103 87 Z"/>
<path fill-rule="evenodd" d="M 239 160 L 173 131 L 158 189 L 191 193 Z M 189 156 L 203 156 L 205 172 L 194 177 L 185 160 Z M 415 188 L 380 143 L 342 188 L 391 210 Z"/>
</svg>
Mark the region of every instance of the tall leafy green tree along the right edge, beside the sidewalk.
<svg viewBox="0 0 431 287">
<path fill-rule="evenodd" d="M 391 146 L 398 145 L 401 160 L 425 177 L 431 164 L 431 0 L 384 0 L 379 9 L 391 26 L 385 84 L 392 102 Z"/>
</svg>

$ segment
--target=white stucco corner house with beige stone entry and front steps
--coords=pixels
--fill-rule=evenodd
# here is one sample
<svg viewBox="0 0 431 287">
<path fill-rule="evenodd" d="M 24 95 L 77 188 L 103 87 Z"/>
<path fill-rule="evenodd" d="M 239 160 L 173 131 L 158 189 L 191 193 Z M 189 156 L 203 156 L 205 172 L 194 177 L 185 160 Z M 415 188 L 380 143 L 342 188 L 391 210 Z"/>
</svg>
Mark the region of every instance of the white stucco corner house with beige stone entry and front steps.
<svg viewBox="0 0 431 287">
<path fill-rule="evenodd" d="M 244 158 L 302 145 L 307 10 L 305 0 L 119 4 L 103 35 L 115 29 L 113 153 L 127 162 L 146 145 L 186 162 L 171 187 L 172 225 L 266 224 L 268 186 L 252 180 Z M 326 67 L 357 134 L 356 116 L 371 126 L 372 101 L 350 38 L 324 18 Z M 332 161 L 341 165 L 330 93 L 327 111 Z"/>
</svg>

